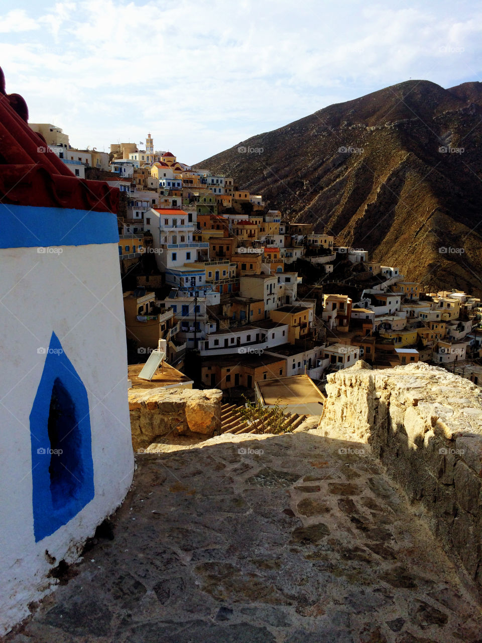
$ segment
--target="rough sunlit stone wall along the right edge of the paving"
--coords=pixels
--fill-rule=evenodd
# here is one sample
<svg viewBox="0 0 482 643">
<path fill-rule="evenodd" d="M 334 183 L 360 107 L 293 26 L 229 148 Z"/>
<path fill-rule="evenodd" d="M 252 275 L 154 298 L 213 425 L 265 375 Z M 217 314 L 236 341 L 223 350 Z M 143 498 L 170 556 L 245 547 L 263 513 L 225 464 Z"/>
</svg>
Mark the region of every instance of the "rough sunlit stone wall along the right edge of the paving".
<svg viewBox="0 0 482 643">
<path fill-rule="evenodd" d="M 482 392 L 425 363 L 328 376 L 320 428 L 371 445 L 434 534 L 482 585 Z"/>
</svg>

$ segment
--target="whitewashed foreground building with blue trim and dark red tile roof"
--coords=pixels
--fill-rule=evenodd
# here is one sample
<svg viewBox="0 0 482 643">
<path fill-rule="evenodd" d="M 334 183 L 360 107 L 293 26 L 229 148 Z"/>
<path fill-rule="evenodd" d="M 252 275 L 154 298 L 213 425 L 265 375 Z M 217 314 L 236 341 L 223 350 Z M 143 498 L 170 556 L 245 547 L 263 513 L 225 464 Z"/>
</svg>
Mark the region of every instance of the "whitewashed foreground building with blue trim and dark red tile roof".
<svg viewBox="0 0 482 643">
<path fill-rule="evenodd" d="M 15 147 L 10 165 L 2 149 L 17 184 L 0 180 L 0 636 L 53 588 L 60 561 L 78 559 L 134 471 L 118 193 L 35 152 L 42 139 L 2 98 L 0 122 L 24 157 Z M 42 169 L 35 191 L 21 183 L 30 163 Z"/>
</svg>

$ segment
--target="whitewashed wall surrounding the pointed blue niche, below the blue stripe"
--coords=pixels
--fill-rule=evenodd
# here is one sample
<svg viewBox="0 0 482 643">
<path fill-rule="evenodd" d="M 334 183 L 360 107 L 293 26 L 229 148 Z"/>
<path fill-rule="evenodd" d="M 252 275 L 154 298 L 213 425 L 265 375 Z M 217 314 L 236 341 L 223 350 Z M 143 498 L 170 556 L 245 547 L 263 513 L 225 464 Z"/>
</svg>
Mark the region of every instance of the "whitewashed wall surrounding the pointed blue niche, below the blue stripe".
<svg viewBox="0 0 482 643">
<path fill-rule="evenodd" d="M 0 298 L 12 311 L 0 308 L 0 634 L 28 616 L 28 603 L 39 601 L 54 582 L 49 570 L 61 559 L 78 558 L 78 546 L 120 505 L 132 482 L 118 246 L 60 249 L 0 249 Z M 94 498 L 36 543 L 29 416 L 46 360 L 38 351 L 48 349 L 52 332 L 87 389 Z M 49 563 L 46 550 L 56 563 Z"/>
</svg>

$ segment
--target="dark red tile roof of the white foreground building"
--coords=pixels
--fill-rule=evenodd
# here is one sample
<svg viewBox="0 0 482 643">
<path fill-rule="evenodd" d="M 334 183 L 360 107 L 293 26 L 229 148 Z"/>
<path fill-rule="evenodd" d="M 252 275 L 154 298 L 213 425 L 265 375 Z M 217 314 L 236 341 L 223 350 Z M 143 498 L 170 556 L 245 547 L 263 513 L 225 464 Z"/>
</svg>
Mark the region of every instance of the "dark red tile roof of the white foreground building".
<svg viewBox="0 0 482 643">
<path fill-rule="evenodd" d="M 1 68 L 0 164 L 2 203 L 118 211 L 118 188 L 112 188 L 105 181 L 87 181 L 73 176 L 42 136 L 28 127 L 26 102 L 18 94 L 6 94 Z"/>
</svg>

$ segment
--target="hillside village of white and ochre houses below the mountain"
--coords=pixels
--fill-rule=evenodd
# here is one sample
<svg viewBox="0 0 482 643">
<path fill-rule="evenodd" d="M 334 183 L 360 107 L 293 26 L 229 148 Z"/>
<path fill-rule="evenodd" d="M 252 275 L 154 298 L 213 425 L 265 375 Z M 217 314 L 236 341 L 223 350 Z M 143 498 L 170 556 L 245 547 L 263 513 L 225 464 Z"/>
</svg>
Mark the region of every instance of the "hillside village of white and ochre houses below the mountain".
<svg viewBox="0 0 482 643">
<path fill-rule="evenodd" d="M 256 383 L 306 374 L 318 385 L 364 359 L 375 368 L 419 360 L 478 383 L 482 307 L 463 292 L 336 246 L 314 224 L 287 221 L 235 178 L 135 143 L 76 150 L 54 125 L 30 125 L 75 176 L 120 190 L 119 260 L 130 363 L 166 340 L 184 370 L 199 351 L 197 386 L 229 399 Z M 185 370 L 184 370 L 185 372 Z"/>
</svg>

